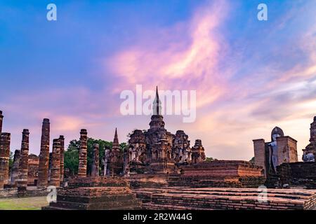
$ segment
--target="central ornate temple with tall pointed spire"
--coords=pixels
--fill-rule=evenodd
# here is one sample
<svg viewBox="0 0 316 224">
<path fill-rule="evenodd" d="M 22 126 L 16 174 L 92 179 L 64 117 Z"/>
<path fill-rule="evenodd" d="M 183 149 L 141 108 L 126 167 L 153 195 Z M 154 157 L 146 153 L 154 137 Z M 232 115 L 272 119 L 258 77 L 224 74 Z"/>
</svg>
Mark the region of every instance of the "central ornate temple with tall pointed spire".
<svg viewBox="0 0 316 224">
<path fill-rule="evenodd" d="M 158 89 L 152 108 L 150 129 L 134 130 L 131 134 L 124 153 L 124 174 L 176 174 L 178 165 L 206 160 L 201 140 L 197 139 L 190 148 L 189 137 L 183 130 L 176 134 L 166 130 Z"/>
</svg>

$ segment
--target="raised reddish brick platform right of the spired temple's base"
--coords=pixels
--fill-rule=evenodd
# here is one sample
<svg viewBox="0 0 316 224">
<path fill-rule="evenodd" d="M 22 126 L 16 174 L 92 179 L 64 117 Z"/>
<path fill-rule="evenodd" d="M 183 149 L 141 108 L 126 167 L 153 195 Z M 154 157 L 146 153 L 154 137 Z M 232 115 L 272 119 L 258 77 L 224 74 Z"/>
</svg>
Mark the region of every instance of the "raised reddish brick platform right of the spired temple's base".
<svg viewBox="0 0 316 224">
<path fill-rule="evenodd" d="M 170 176 L 169 186 L 190 188 L 258 188 L 265 183 L 262 167 L 241 160 L 216 160 L 180 167 Z"/>
</svg>

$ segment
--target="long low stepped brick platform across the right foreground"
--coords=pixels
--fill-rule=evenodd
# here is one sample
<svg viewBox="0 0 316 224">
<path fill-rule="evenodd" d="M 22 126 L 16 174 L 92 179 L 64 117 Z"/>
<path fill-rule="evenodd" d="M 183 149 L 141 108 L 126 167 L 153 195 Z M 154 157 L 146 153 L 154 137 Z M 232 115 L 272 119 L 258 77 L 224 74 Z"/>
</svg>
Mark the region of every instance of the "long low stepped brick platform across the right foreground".
<svg viewBox="0 0 316 224">
<path fill-rule="evenodd" d="M 316 206 L 316 190 L 268 189 L 267 202 L 258 202 L 254 188 L 146 188 L 136 193 L 143 209 L 308 210 Z"/>
</svg>

